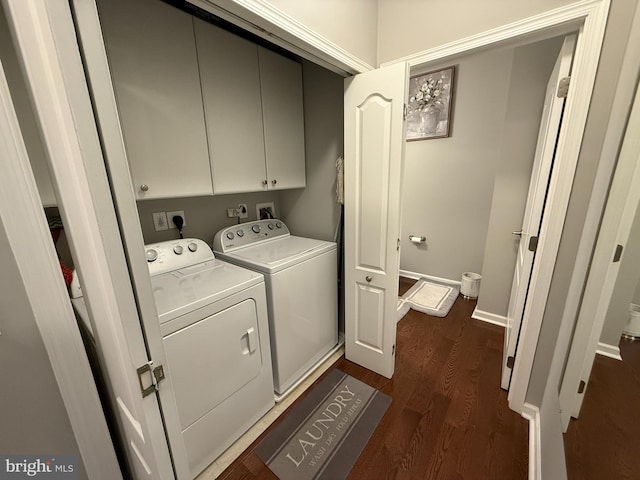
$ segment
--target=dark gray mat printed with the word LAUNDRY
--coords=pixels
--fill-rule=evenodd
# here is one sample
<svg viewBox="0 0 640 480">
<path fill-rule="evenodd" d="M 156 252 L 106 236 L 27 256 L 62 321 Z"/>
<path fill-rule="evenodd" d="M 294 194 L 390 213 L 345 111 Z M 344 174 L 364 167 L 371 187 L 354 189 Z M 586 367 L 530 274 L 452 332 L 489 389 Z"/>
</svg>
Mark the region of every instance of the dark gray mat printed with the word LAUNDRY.
<svg viewBox="0 0 640 480">
<path fill-rule="evenodd" d="M 280 480 L 347 477 L 391 398 L 334 369 L 258 445 Z"/>
</svg>

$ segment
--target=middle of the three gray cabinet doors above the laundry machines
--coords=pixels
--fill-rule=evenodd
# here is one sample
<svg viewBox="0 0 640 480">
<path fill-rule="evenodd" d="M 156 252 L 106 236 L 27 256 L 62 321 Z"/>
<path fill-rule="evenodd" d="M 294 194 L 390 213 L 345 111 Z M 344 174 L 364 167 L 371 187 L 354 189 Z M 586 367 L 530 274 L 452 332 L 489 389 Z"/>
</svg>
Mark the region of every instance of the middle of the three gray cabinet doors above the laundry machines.
<svg viewBox="0 0 640 480">
<path fill-rule="evenodd" d="M 266 190 L 258 47 L 194 19 L 214 193 Z"/>
</svg>

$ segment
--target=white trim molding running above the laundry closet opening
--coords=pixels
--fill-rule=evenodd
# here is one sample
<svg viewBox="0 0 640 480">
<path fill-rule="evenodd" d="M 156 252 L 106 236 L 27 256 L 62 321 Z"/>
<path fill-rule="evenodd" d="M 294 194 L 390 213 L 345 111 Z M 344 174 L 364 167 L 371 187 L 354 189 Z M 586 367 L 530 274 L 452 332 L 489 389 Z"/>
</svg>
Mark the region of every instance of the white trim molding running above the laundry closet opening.
<svg viewBox="0 0 640 480">
<path fill-rule="evenodd" d="M 265 0 L 187 1 L 343 76 L 374 69 Z"/>
</svg>

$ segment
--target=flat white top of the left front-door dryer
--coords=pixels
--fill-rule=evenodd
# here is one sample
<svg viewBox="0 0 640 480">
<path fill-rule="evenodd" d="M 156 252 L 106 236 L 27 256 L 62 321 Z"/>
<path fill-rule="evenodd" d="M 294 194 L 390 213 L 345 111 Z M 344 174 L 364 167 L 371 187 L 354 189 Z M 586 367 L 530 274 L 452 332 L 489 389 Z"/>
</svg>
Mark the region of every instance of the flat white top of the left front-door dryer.
<svg viewBox="0 0 640 480">
<path fill-rule="evenodd" d="M 260 282 L 260 273 L 218 259 L 151 277 L 160 324 Z"/>
</svg>

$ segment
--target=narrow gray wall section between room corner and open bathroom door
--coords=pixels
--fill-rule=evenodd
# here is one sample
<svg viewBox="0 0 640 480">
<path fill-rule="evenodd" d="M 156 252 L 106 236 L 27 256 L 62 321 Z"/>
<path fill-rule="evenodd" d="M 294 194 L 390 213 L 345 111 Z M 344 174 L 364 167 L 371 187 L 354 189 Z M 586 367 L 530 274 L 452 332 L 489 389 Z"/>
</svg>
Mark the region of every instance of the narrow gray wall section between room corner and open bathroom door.
<svg viewBox="0 0 640 480">
<path fill-rule="evenodd" d="M 511 232 L 522 226 L 545 90 L 562 40 L 553 38 L 513 51 L 477 305 L 494 315 L 506 316 L 509 306 L 519 245 Z"/>
</svg>

